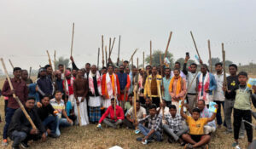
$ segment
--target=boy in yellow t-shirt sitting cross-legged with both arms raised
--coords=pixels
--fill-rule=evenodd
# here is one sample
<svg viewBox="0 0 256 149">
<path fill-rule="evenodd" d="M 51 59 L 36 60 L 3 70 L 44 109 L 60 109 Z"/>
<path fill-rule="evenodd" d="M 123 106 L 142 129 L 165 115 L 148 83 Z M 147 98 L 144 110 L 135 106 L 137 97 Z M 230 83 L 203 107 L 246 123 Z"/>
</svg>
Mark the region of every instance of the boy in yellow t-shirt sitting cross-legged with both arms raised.
<svg viewBox="0 0 256 149">
<path fill-rule="evenodd" d="M 187 116 L 183 113 L 183 106 L 184 101 L 181 103 L 181 111 L 180 115 L 186 119 L 187 123 L 189 124 L 189 134 L 184 134 L 183 140 L 188 142 L 185 148 L 196 148 L 200 146 L 207 146 L 207 144 L 211 140 L 210 135 L 204 135 L 204 126 L 208 122 L 212 122 L 216 117 L 216 113 L 212 114 L 210 118 L 201 118 L 200 117 L 200 110 L 198 108 L 193 109 L 192 117 Z M 215 106 L 218 108 L 218 105 Z"/>
</svg>

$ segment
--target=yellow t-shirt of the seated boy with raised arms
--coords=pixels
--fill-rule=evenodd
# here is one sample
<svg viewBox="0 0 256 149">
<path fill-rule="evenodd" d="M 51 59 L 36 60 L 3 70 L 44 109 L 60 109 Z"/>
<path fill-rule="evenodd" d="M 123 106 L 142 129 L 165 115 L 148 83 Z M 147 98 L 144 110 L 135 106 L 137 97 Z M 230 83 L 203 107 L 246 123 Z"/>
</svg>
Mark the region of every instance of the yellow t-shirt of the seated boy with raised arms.
<svg viewBox="0 0 256 149">
<path fill-rule="evenodd" d="M 195 121 L 192 117 L 187 117 L 187 123 L 189 123 L 189 134 L 190 135 L 203 135 L 204 126 L 207 124 L 208 118 L 199 118 Z"/>
</svg>

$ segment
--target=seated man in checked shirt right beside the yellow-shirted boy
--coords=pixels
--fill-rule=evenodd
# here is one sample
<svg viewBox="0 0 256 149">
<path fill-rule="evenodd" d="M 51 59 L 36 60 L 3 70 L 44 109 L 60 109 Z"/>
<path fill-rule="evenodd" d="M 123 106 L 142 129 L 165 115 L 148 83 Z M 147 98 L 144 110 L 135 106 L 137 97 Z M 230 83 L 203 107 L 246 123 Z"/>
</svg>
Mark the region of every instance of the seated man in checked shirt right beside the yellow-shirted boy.
<svg viewBox="0 0 256 149">
<path fill-rule="evenodd" d="M 166 123 L 163 124 L 163 129 L 169 135 L 168 141 L 178 141 L 183 145 L 183 140 L 180 138 L 183 134 L 189 131 L 189 127 L 183 127 L 183 117 L 177 113 L 175 105 L 169 105 L 169 113 L 165 115 Z"/>
</svg>

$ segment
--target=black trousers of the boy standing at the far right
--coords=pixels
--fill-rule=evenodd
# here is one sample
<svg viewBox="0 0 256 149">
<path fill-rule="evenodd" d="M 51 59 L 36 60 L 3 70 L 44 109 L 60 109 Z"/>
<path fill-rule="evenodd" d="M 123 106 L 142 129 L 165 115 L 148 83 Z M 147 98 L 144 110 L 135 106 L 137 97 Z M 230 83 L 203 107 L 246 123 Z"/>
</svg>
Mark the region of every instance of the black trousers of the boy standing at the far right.
<svg viewBox="0 0 256 149">
<path fill-rule="evenodd" d="M 239 137 L 239 130 L 241 127 L 241 120 L 246 120 L 249 123 L 252 123 L 252 112 L 251 110 L 239 110 L 234 108 L 234 138 L 237 140 Z M 245 129 L 247 131 L 247 140 L 248 142 L 253 141 L 253 128 L 250 124 L 244 123 Z"/>
</svg>

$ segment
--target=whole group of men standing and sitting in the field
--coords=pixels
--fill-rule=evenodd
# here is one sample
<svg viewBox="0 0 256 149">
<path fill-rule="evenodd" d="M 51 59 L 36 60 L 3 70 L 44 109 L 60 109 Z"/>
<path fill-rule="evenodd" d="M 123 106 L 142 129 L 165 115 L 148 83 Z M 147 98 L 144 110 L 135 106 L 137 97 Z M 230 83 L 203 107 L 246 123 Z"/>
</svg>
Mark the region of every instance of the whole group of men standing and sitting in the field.
<svg viewBox="0 0 256 149">
<path fill-rule="evenodd" d="M 227 134 L 233 132 L 233 109 L 234 117 L 236 115 L 234 146 L 238 146 L 238 138 L 243 137 L 244 129 L 248 143 L 252 142 L 248 99 L 256 88 L 246 88 L 247 73 L 237 74 L 235 64 L 229 66 L 230 76 L 225 79 L 222 63 L 215 64 L 216 74 L 212 74 L 200 61 L 201 72 L 197 72 L 197 64 L 187 66 L 189 56 L 186 56 L 182 70 L 176 62 L 173 71 L 168 66 L 146 66 L 146 70 L 129 67 L 126 60 L 120 66 L 108 60 L 108 68 L 101 70 L 90 63 L 79 69 L 73 57 L 70 59 L 72 69 L 60 64 L 53 71 L 52 66 L 46 65 L 39 69 L 34 83 L 26 70 L 14 68 L 14 78 L 11 78 L 14 90 L 10 89 L 7 80 L 3 84 L 3 145 L 8 144 L 9 137 L 14 140 L 13 148 L 28 147 L 28 140 L 59 137 L 60 127 L 97 123 L 97 128 L 102 129 L 102 123 L 105 123 L 113 129 L 120 126 L 135 129 L 136 134 L 143 135 L 137 138 L 143 144 L 161 141 L 166 133 L 170 143 L 177 141 L 186 148 L 207 147 L 212 133 L 223 124 Z M 19 97 L 37 129 L 32 128 L 13 94 Z M 213 101 L 217 112 L 209 110 Z"/>
</svg>

